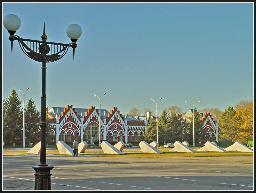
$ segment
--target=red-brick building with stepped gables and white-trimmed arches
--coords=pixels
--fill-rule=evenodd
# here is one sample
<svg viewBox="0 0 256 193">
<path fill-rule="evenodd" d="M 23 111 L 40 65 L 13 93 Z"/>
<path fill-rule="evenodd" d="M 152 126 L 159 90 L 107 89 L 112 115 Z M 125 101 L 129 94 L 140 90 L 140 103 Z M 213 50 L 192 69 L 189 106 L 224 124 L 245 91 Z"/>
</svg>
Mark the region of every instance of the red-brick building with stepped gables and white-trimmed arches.
<svg viewBox="0 0 256 193">
<path fill-rule="evenodd" d="M 48 117 L 51 118 L 52 132 L 55 135 L 54 142 L 64 141 L 67 144 L 85 141 L 93 145 L 96 140 L 105 140 L 114 145 L 118 141 L 130 141 L 139 144 L 142 134 L 148 125 L 148 120 L 156 121 L 156 117 L 147 112 L 145 116 L 122 115 L 116 107 L 108 112 L 91 108 L 73 108 L 67 105 L 66 108 L 52 107 L 48 110 Z M 177 116 L 186 119 L 189 123 L 193 121 L 193 111 L 190 109 L 184 116 Z M 205 132 L 209 135 L 209 141 L 218 140 L 217 121 L 213 121 L 210 113 L 200 114 L 204 122 Z M 100 125 L 100 129 L 99 129 Z M 99 135 L 100 132 L 100 135 Z"/>
</svg>

